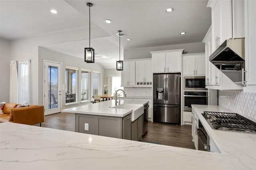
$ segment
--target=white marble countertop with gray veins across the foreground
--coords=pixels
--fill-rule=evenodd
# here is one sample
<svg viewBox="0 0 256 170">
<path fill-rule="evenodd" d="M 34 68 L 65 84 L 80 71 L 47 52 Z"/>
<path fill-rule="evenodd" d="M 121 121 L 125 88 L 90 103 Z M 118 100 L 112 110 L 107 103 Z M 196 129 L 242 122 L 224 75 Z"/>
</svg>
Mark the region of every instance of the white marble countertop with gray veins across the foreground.
<svg viewBox="0 0 256 170">
<path fill-rule="evenodd" d="M 227 154 L 10 122 L 0 123 L 0 129 L 1 170 L 249 169 Z"/>
</svg>

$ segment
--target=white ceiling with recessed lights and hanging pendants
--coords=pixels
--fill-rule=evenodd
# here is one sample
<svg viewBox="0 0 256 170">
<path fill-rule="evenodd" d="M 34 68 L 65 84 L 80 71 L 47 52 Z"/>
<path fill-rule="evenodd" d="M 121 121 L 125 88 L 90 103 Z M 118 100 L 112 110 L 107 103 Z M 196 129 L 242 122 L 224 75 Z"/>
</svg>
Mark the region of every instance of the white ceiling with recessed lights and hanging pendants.
<svg viewBox="0 0 256 170">
<path fill-rule="evenodd" d="M 127 35 L 121 37 L 123 59 L 123 49 L 202 42 L 211 25 L 211 9 L 206 8 L 208 0 L 1 0 L 1 38 L 15 40 L 89 27 L 87 2 L 93 4 L 91 34 L 99 33 L 93 32 L 94 26 L 109 34 L 90 40 L 97 54 L 95 62 L 104 68 L 115 68 L 115 61 L 119 60 L 118 30 Z M 174 11 L 165 12 L 170 7 Z M 52 9 L 58 13 L 52 14 Z M 112 23 L 105 23 L 106 19 Z M 126 41 L 127 38 L 132 41 Z M 84 58 L 87 46 L 88 39 L 43 47 Z"/>
</svg>

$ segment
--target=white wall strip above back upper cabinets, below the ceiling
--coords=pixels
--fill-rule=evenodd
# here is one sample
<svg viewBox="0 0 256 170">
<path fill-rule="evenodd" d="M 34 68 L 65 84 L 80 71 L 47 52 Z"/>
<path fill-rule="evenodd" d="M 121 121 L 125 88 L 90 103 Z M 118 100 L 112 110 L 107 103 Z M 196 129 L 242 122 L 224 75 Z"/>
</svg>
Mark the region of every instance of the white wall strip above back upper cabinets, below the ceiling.
<svg viewBox="0 0 256 170">
<path fill-rule="evenodd" d="M 124 60 L 128 59 L 145 59 L 151 58 L 150 51 L 162 51 L 162 50 L 174 50 L 185 49 L 184 53 L 204 53 L 205 45 L 202 42 L 199 43 L 187 43 L 177 45 L 165 45 L 157 47 L 145 47 L 138 49 L 124 49 Z"/>
</svg>

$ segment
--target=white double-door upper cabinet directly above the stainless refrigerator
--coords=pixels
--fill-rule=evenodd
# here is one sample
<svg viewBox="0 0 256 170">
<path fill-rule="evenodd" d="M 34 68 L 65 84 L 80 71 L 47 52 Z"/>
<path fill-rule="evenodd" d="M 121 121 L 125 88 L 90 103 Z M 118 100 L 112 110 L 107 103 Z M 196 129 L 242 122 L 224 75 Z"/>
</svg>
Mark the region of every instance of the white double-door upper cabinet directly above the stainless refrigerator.
<svg viewBox="0 0 256 170">
<path fill-rule="evenodd" d="M 152 72 L 181 72 L 184 49 L 152 51 Z"/>
</svg>

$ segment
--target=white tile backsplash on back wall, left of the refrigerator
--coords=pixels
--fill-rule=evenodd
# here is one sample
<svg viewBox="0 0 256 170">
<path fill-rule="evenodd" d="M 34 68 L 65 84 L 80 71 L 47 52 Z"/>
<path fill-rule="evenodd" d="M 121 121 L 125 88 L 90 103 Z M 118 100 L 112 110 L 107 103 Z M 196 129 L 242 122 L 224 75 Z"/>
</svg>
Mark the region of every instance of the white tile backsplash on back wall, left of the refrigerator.
<svg viewBox="0 0 256 170">
<path fill-rule="evenodd" d="M 151 97 L 151 87 L 124 87 L 126 96 L 144 96 Z"/>
</svg>

